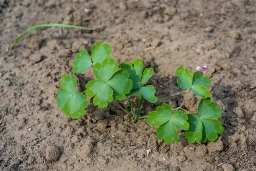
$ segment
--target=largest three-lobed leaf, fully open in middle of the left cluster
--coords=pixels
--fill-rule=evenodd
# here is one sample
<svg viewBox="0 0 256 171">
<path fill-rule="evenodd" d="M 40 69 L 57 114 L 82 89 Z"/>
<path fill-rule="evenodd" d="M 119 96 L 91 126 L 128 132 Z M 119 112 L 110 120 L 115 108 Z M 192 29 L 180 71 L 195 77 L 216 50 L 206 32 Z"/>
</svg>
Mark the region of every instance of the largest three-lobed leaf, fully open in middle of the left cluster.
<svg viewBox="0 0 256 171">
<path fill-rule="evenodd" d="M 93 97 L 93 104 L 105 108 L 113 100 L 122 100 L 133 88 L 129 72 L 119 70 L 118 63 L 113 58 L 105 58 L 96 63 L 93 72 L 97 80 L 86 84 L 86 94 Z"/>
</svg>

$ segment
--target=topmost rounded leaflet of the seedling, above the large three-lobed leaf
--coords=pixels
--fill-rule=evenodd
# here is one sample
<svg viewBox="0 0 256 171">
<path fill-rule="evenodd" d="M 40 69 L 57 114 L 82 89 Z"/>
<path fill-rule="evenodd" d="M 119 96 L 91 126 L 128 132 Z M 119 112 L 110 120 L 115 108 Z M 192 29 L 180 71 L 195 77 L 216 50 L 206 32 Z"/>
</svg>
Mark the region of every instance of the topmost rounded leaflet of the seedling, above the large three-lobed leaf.
<svg viewBox="0 0 256 171">
<path fill-rule="evenodd" d="M 112 49 L 109 44 L 101 45 L 100 42 L 96 42 L 92 46 L 92 61 L 94 64 L 103 63 L 105 58 L 110 57 Z"/>
</svg>

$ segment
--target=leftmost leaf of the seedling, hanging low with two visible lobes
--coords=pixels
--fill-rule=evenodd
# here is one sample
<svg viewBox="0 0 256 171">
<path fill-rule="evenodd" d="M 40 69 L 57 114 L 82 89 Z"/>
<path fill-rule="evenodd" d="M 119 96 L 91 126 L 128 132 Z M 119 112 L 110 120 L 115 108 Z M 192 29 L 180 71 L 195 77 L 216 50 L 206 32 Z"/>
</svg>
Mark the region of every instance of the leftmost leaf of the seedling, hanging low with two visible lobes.
<svg viewBox="0 0 256 171">
<path fill-rule="evenodd" d="M 57 106 L 61 112 L 73 119 L 80 118 L 84 115 L 84 109 L 88 106 L 86 96 L 76 91 L 76 77 L 65 74 L 60 80 L 61 87 L 57 92 Z"/>
</svg>

